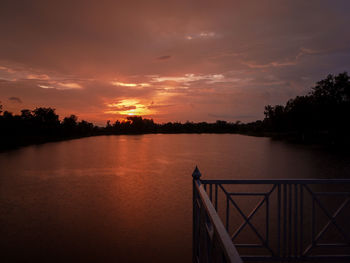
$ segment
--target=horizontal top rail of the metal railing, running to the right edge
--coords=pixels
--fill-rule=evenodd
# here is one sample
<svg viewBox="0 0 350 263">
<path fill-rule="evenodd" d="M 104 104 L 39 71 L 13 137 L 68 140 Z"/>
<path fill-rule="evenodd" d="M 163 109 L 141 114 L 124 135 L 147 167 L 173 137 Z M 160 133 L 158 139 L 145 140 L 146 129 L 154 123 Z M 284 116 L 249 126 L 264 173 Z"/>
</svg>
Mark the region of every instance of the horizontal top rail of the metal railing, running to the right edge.
<svg viewBox="0 0 350 263">
<path fill-rule="evenodd" d="M 201 179 L 200 181 L 203 184 L 350 184 L 350 179 Z"/>
</svg>

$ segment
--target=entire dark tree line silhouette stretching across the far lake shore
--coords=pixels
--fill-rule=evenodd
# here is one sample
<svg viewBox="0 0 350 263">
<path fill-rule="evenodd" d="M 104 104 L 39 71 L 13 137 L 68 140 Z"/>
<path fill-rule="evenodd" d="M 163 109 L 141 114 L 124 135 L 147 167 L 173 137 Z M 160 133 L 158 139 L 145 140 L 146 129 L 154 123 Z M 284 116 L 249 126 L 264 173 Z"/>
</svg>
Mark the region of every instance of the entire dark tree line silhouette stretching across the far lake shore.
<svg viewBox="0 0 350 263">
<path fill-rule="evenodd" d="M 285 106 L 265 106 L 264 120 L 235 123 L 154 123 L 129 116 L 125 121 L 98 127 L 75 115 L 60 121 L 53 108 L 23 109 L 19 115 L 2 111 L 0 104 L 0 150 L 18 146 L 95 135 L 145 133 L 241 133 L 286 138 L 303 143 L 350 145 L 350 79 L 346 72 L 326 79 L 305 96 L 290 99 Z"/>
</svg>

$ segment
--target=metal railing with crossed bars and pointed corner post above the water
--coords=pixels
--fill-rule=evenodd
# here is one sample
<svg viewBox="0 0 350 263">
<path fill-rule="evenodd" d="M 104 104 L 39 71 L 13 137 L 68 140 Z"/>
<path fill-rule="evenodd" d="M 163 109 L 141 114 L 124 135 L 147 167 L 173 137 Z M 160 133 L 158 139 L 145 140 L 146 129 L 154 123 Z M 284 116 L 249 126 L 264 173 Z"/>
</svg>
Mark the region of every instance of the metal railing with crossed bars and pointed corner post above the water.
<svg viewBox="0 0 350 263">
<path fill-rule="evenodd" d="M 350 179 L 192 176 L 193 262 L 350 260 Z"/>
</svg>

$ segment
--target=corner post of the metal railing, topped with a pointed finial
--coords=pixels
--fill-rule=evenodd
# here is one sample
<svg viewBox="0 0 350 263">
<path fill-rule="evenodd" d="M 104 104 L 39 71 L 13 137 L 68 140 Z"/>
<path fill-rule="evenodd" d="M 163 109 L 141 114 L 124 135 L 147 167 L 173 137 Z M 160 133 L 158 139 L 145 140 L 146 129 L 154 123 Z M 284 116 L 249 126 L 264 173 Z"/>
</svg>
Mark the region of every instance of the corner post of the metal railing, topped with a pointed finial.
<svg viewBox="0 0 350 263">
<path fill-rule="evenodd" d="M 196 193 L 196 181 L 197 180 L 200 180 L 200 177 L 201 177 L 201 173 L 198 169 L 198 167 L 196 166 L 196 168 L 194 169 L 193 173 L 192 173 L 192 179 L 193 179 L 193 218 L 192 218 L 192 222 L 193 222 L 193 225 L 192 225 L 192 262 L 195 263 L 197 262 L 197 253 L 196 251 L 198 250 L 198 245 L 199 245 L 199 240 L 197 240 L 197 236 L 196 236 L 196 232 L 198 233 L 198 227 L 196 224 L 197 224 L 197 218 L 199 217 L 199 210 L 196 209 L 196 202 L 197 202 L 197 193 Z"/>
</svg>

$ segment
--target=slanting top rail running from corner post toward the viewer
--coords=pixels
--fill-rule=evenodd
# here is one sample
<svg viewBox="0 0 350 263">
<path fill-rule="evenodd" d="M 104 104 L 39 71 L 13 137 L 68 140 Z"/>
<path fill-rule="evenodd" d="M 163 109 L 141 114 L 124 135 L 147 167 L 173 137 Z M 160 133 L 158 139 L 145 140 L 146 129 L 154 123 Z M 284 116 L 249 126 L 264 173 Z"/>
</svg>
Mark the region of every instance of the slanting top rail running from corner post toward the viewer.
<svg viewBox="0 0 350 263">
<path fill-rule="evenodd" d="M 219 215 L 216 213 L 215 208 L 213 207 L 208 195 L 206 194 L 203 185 L 199 179 L 194 180 L 195 187 L 199 193 L 199 196 L 205 206 L 207 214 L 214 226 L 215 232 L 217 233 L 221 245 L 223 247 L 223 251 L 225 252 L 227 259 L 231 263 L 242 263 L 242 259 L 239 256 L 235 246 L 232 243 L 232 240 L 227 233 L 224 225 L 221 222 Z"/>
</svg>

